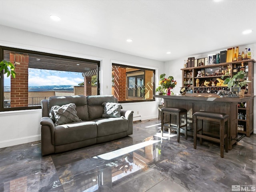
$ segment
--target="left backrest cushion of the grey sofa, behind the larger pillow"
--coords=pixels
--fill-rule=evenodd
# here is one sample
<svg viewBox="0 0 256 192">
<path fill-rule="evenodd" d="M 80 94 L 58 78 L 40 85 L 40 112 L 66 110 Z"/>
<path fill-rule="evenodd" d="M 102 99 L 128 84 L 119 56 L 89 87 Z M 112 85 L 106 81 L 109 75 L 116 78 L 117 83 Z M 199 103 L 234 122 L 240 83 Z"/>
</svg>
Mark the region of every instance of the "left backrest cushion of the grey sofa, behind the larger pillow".
<svg viewBox="0 0 256 192">
<path fill-rule="evenodd" d="M 52 106 L 62 106 L 66 104 L 74 103 L 76 105 L 76 114 L 78 118 L 83 121 L 89 120 L 88 107 L 86 96 L 74 95 L 74 96 L 50 96 L 48 98 L 48 114 L 50 117 L 50 109 Z"/>
</svg>

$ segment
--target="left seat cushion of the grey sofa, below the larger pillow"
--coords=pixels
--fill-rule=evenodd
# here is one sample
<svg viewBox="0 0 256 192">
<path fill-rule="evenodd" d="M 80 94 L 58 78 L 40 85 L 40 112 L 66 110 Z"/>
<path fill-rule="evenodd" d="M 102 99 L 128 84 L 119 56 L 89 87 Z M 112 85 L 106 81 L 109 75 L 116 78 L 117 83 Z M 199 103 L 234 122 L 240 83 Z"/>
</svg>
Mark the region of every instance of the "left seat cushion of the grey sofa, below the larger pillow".
<svg viewBox="0 0 256 192">
<path fill-rule="evenodd" d="M 96 138 L 97 126 L 92 121 L 72 122 L 55 127 L 55 145 L 69 144 Z"/>
</svg>

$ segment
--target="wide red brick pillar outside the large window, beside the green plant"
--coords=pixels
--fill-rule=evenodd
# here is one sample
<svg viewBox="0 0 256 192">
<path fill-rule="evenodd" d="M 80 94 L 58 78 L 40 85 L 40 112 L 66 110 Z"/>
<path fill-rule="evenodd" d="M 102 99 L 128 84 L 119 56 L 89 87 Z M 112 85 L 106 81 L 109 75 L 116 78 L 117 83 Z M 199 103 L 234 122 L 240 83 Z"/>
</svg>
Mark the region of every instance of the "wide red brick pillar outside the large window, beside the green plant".
<svg viewBox="0 0 256 192">
<path fill-rule="evenodd" d="M 28 61 L 26 54 L 10 53 L 10 62 L 15 64 L 16 78 L 11 77 L 11 107 L 28 106 Z"/>
</svg>

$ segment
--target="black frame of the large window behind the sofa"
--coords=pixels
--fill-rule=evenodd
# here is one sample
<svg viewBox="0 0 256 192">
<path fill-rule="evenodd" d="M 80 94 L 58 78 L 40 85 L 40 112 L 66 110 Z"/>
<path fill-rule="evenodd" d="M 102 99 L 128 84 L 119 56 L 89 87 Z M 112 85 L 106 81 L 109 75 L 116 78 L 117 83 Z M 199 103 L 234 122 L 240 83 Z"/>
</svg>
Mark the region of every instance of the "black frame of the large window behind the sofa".
<svg viewBox="0 0 256 192">
<path fill-rule="evenodd" d="M 59 54 L 51 54 L 46 52 L 39 52 L 39 51 L 32 51 L 32 50 L 25 50 L 20 48 L 12 48 L 12 47 L 6 47 L 6 46 L 0 46 L 0 61 L 4 59 L 4 50 L 13 51 L 13 52 L 23 52 L 26 54 L 37 54 L 37 55 L 43 55 L 43 56 L 51 56 L 56 58 L 64 58 L 64 59 L 71 59 L 71 60 L 79 60 L 84 62 L 92 62 L 97 65 L 98 70 L 98 76 L 97 76 L 97 95 L 100 94 L 100 82 L 99 82 L 99 72 L 100 72 L 100 61 L 97 60 L 90 60 L 90 59 L 84 59 L 84 58 L 78 58 L 78 57 L 72 57 L 72 56 L 65 56 L 65 55 L 59 55 Z M 14 111 L 14 110 L 31 110 L 31 109 L 41 109 L 41 106 L 26 106 L 26 107 L 11 107 L 11 108 L 4 108 L 4 72 L 0 72 L 0 112 L 4 111 Z"/>
</svg>

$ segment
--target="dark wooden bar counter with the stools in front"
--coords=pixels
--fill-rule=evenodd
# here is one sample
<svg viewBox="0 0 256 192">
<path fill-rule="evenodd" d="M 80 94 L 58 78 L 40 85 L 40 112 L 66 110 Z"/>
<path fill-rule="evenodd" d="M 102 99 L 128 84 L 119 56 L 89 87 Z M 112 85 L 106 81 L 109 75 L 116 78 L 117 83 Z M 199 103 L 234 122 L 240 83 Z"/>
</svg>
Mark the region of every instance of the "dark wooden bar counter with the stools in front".
<svg viewBox="0 0 256 192">
<path fill-rule="evenodd" d="M 238 103 L 246 102 L 247 109 L 247 121 L 250 133 L 253 132 L 253 99 L 254 96 L 242 97 L 242 98 L 228 98 L 228 97 L 205 97 L 205 96 L 177 96 L 177 95 L 155 95 L 156 98 L 164 98 L 165 107 L 180 107 L 188 110 L 188 126 L 192 128 L 192 117 L 195 112 L 198 111 L 210 111 L 210 112 L 222 112 L 229 115 L 228 126 L 230 127 L 230 133 L 228 138 L 228 149 L 232 149 L 233 144 L 237 144 L 238 139 Z M 207 131 L 217 134 L 219 127 L 216 124 L 206 124 L 205 129 Z M 249 136 L 250 136 L 249 133 Z M 248 136 L 246 134 L 246 136 Z"/>
</svg>

